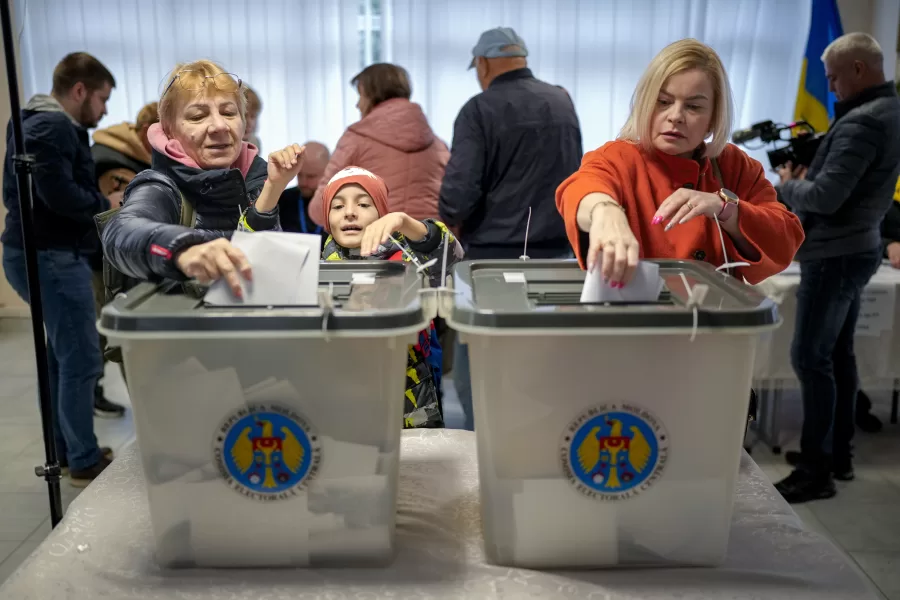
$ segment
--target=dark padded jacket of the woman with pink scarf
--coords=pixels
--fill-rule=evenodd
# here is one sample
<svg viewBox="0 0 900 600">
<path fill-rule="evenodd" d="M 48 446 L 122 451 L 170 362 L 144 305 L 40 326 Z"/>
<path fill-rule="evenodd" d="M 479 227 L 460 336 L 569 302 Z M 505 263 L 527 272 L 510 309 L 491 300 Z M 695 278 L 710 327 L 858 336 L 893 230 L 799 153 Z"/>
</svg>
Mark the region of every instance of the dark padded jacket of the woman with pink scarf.
<svg viewBox="0 0 900 600">
<path fill-rule="evenodd" d="M 107 260 L 136 279 L 184 280 L 175 266 L 178 253 L 216 238 L 231 238 L 244 212 L 251 229 L 278 229 L 277 207 L 270 213 L 253 208 L 266 169 L 266 161 L 257 156 L 245 181 L 238 169 L 195 169 L 154 150 L 152 168 L 128 184 L 122 210 L 103 230 Z M 178 224 L 182 195 L 194 208 L 195 229 Z"/>
</svg>

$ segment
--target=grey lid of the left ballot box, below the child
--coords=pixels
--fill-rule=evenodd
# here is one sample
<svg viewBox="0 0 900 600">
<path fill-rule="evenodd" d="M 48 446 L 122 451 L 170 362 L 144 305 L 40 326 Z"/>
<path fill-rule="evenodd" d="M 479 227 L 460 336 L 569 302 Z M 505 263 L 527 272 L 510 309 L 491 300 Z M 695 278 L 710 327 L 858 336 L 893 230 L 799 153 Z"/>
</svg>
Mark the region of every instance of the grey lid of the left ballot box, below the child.
<svg viewBox="0 0 900 600">
<path fill-rule="evenodd" d="M 315 306 L 211 306 L 202 289 L 142 283 L 103 307 L 101 333 L 352 332 L 391 334 L 426 323 L 421 275 L 400 261 L 323 261 Z"/>
</svg>

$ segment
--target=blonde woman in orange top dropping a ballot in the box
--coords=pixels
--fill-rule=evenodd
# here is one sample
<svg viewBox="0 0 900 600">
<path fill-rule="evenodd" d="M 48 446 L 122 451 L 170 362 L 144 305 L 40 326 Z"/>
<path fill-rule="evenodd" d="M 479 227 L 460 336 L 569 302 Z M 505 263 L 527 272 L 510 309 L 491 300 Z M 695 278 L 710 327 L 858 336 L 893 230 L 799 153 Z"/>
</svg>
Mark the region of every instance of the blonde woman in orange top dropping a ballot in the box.
<svg viewBox="0 0 900 600">
<path fill-rule="evenodd" d="M 728 143 L 731 125 L 715 51 L 692 39 L 664 48 L 619 139 L 586 154 L 557 189 L 582 267 L 602 269 L 613 287 L 628 284 L 642 257 L 747 263 L 735 273 L 751 283 L 784 270 L 803 229 L 762 165 Z"/>
</svg>

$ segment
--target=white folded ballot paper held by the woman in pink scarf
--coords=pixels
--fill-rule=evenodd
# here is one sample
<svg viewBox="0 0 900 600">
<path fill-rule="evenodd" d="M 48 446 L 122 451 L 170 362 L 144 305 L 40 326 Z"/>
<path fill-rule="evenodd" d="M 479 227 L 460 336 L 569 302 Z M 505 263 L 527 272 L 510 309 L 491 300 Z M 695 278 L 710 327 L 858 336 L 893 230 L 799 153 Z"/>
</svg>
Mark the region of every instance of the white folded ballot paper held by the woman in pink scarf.
<svg viewBox="0 0 900 600">
<path fill-rule="evenodd" d="M 231 238 L 250 261 L 253 277 L 241 283 L 243 297 L 231 293 L 224 280 L 206 293 L 217 306 L 316 306 L 319 285 L 318 235 L 283 231 L 235 231 Z"/>
</svg>

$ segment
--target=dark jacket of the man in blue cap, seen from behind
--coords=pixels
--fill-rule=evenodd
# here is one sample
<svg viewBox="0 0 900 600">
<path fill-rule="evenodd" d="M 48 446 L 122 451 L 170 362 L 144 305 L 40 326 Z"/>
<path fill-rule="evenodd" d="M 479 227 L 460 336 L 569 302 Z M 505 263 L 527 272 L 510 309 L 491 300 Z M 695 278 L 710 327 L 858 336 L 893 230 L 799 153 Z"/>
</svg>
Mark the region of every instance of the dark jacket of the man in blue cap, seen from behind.
<svg viewBox="0 0 900 600">
<path fill-rule="evenodd" d="M 568 93 L 529 69 L 504 73 L 456 118 L 441 219 L 461 227 L 467 252 L 506 247 L 518 249 L 518 256 L 530 207 L 529 247 L 568 249 L 556 188 L 578 170 L 581 156 L 581 128 Z"/>
</svg>

